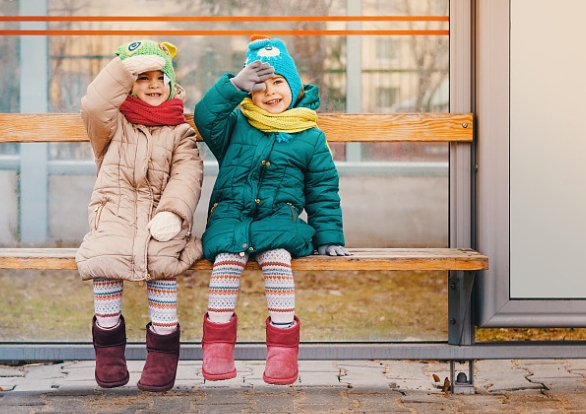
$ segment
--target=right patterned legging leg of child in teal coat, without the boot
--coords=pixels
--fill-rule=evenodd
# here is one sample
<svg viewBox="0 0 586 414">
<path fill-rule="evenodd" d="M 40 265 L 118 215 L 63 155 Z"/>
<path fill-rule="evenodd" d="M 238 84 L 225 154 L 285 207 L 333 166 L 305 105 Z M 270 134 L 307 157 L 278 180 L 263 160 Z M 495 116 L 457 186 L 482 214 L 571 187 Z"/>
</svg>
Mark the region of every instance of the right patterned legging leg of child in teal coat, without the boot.
<svg viewBox="0 0 586 414">
<path fill-rule="evenodd" d="M 291 254 L 285 249 L 269 250 L 256 258 L 265 279 L 265 294 L 271 323 L 280 328 L 293 326 L 295 281 Z"/>
</svg>

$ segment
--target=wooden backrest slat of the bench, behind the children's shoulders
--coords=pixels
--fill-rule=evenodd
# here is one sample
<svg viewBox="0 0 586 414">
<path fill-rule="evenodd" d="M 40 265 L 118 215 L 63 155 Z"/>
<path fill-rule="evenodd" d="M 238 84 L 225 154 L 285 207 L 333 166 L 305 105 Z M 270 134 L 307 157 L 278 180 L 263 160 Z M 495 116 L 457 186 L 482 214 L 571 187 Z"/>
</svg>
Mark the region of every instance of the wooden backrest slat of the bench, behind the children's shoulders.
<svg viewBox="0 0 586 414">
<path fill-rule="evenodd" d="M 193 125 L 193 115 L 186 114 Z M 0 114 L 0 143 L 86 142 L 76 113 Z M 319 114 L 329 142 L 472 142 L 472 114 Z M 199 134 L 198 134 L 199 135 Z"/>
</svg>

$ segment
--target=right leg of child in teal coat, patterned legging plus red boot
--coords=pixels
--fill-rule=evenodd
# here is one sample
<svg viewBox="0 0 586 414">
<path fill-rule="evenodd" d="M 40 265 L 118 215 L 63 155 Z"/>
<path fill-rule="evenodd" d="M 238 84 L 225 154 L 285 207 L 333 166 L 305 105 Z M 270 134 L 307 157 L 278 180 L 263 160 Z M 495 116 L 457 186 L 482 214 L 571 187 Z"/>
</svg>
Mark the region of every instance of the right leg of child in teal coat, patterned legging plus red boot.
<svg viewBox="0 0 586 414">
<path fill-rule="evenodd" d="M 284 249 L 270 250 L 259 254 L 256 260 L 265 278 L 270 315 L 265 322 L 267 363 L 262 377 L 269 384 L 293 384 L 298 376 L 301 324 L 295 316 L 291 254 Z"/>
</svg>

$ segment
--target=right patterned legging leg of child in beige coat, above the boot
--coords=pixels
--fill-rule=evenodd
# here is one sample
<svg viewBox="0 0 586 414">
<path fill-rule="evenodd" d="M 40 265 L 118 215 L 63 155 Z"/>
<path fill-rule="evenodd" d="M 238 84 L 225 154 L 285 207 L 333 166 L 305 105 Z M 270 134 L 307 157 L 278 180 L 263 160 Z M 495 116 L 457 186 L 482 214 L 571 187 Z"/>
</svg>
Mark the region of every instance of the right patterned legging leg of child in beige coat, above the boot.
<svg viewBox="0 0 586 414">
<path fill-rule="evenodd" d="M 177 279 L 147 282 L 151 329 L 161 335 L 175 332 L 177 320 Z"/>
</svg>

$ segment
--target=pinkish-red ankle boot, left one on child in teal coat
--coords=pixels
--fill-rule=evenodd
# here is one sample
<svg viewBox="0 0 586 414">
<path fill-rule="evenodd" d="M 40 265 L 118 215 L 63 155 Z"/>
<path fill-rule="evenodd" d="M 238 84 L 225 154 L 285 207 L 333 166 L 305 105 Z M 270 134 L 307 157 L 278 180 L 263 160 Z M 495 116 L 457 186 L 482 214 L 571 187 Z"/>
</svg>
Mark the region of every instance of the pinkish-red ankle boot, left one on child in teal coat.
<svg viewBox="0 0 586 414">
<path fill-rule="evenodd" d="M 227 323 L 214 323 L 208 320 L 208 314 L 203 317 L 203 365 L 201 373 L 206 380 L 217 381 L 234 378 L 234 346 L 236 345 L 236 330 L 238 318 L 236 314 Z"/>
</svg>

